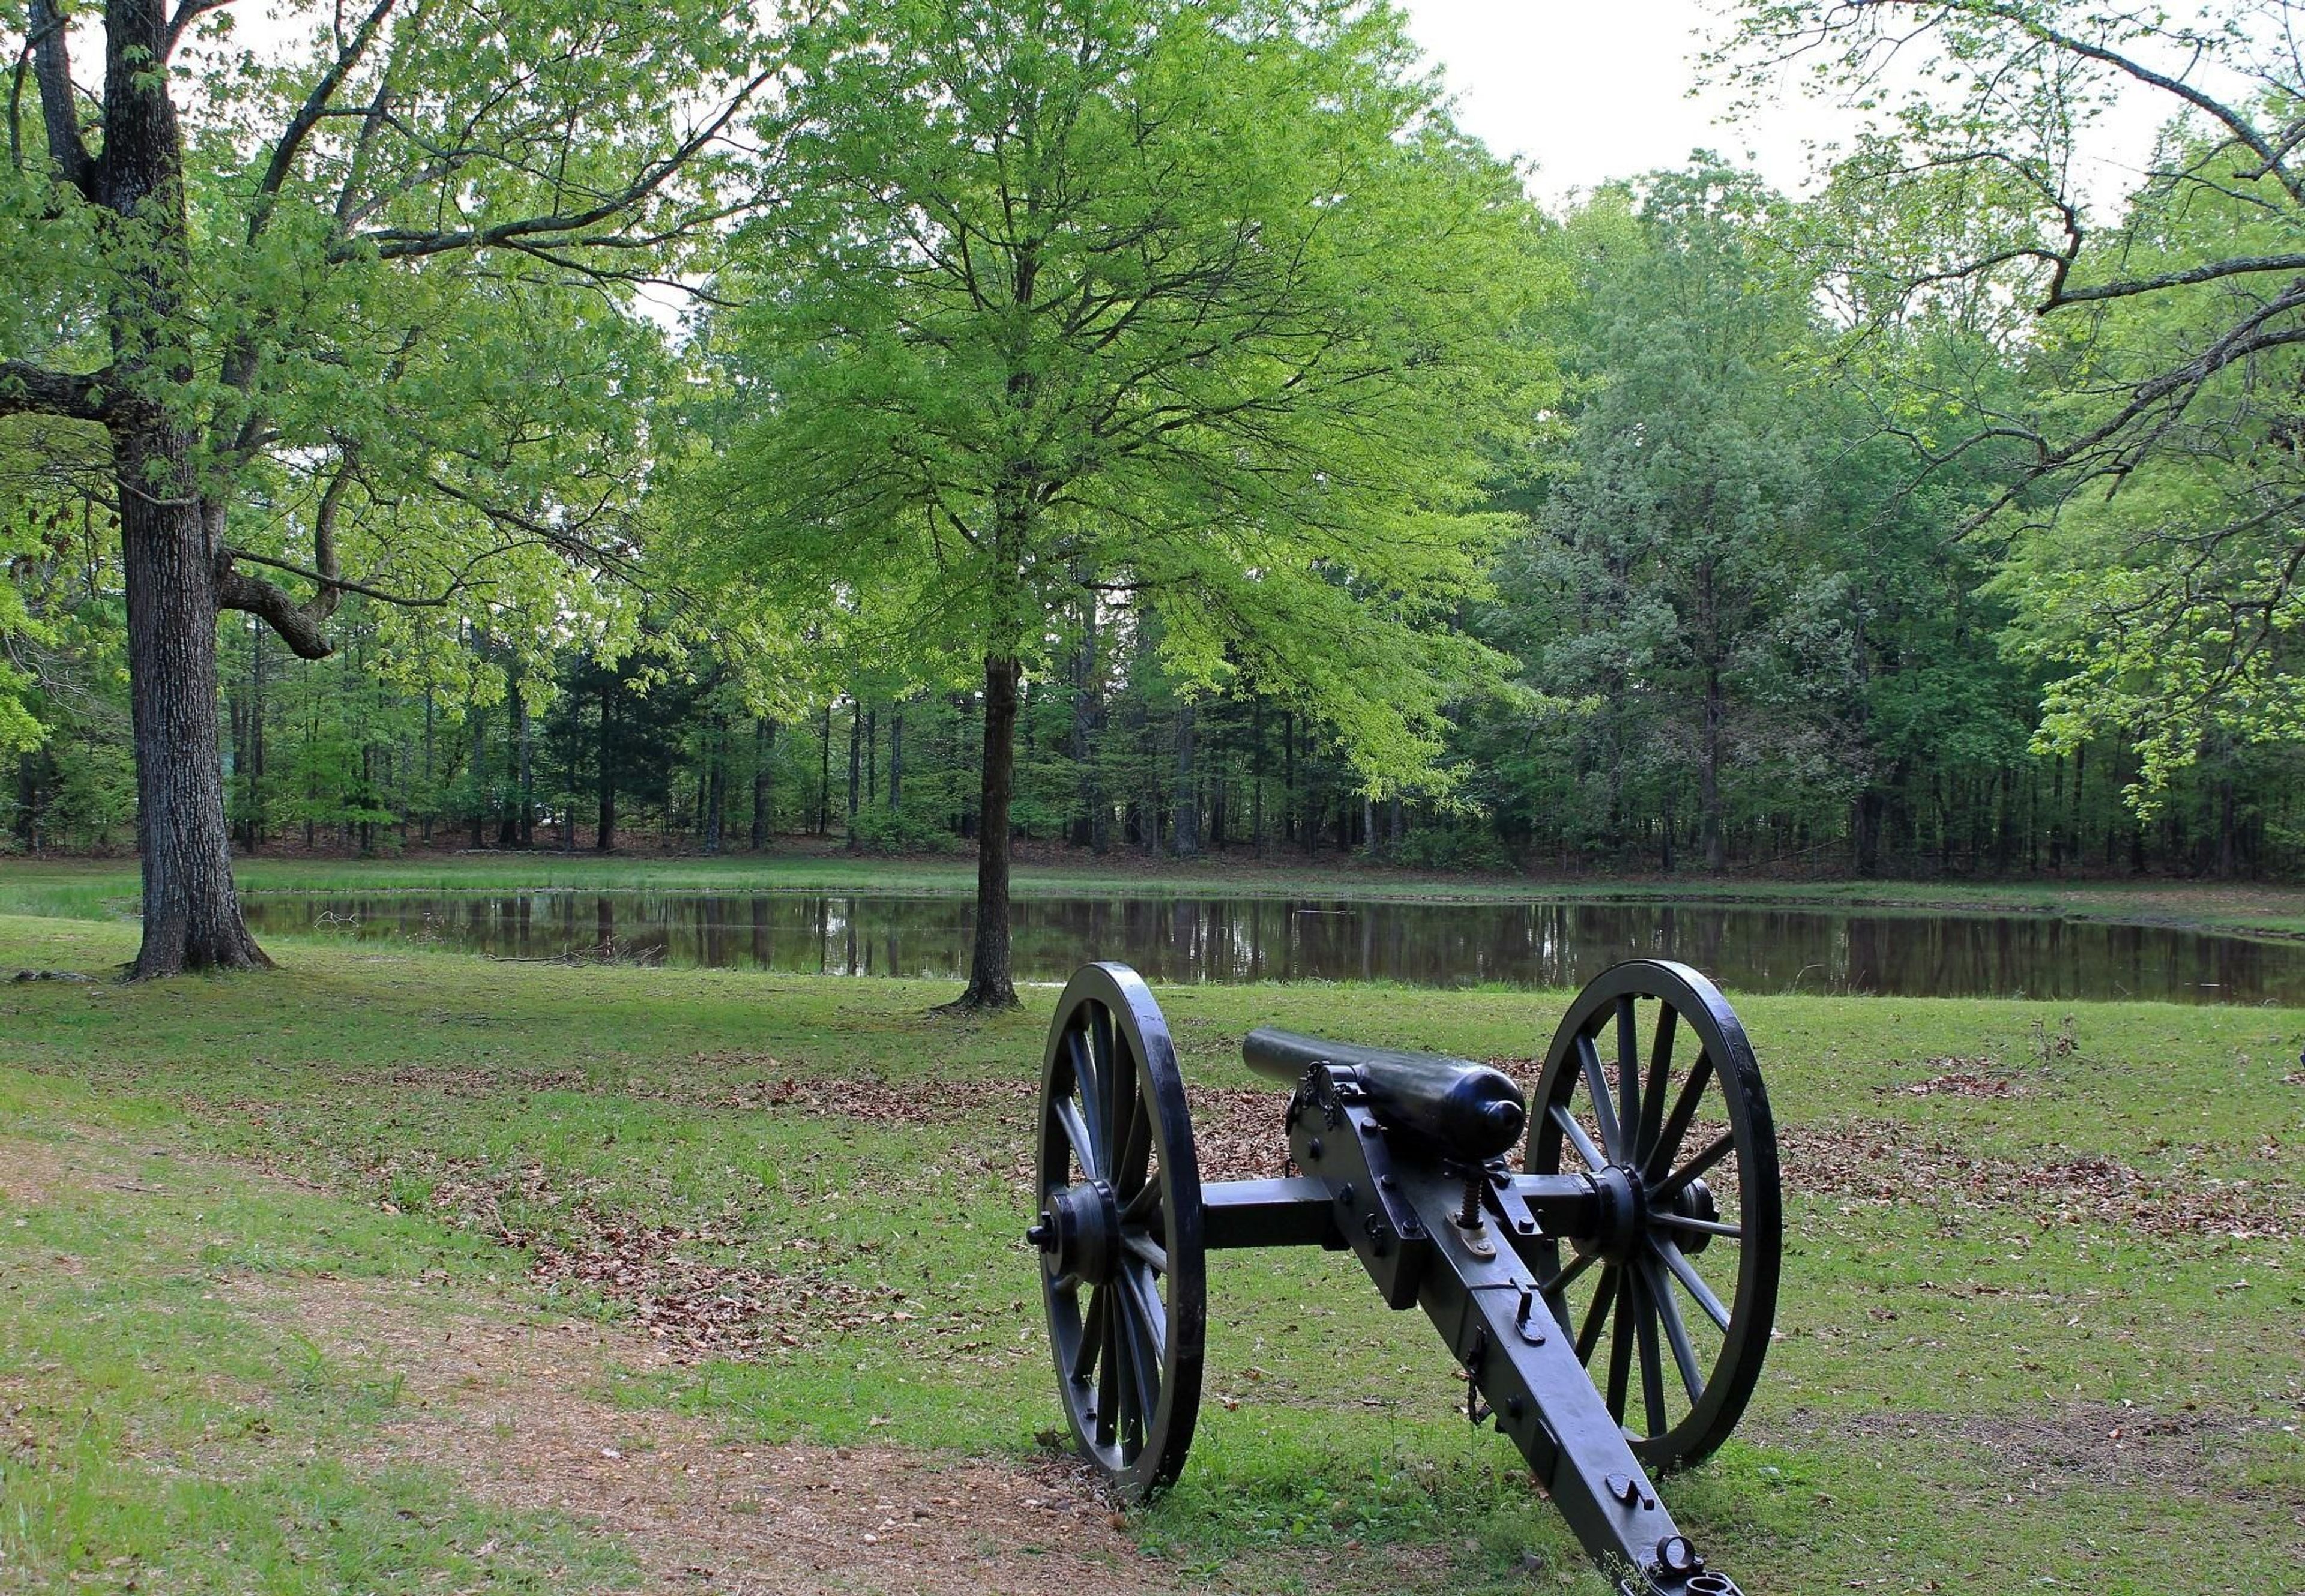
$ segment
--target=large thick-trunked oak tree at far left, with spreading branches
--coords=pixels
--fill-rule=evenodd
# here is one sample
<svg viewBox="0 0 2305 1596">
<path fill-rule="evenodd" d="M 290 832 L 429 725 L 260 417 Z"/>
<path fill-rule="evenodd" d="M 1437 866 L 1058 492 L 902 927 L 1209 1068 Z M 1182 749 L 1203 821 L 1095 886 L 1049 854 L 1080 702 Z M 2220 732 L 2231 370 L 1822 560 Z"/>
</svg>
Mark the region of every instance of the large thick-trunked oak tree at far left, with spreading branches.
<svg viewBox="0 0 2305 1596">
<path fill-rule="evenodd" d="M 719 210 L 705 166 L 763 81 L 749 12 L 698 0 L 307 5 L 249 44 L 235 9 L 0 0 L 0 422 L 111 452 L 136 976 L 267 962 L 231 879 L 219 611 L 318 657 L 346 593 L 618 558 L 629 300 Z"/>
</svg>

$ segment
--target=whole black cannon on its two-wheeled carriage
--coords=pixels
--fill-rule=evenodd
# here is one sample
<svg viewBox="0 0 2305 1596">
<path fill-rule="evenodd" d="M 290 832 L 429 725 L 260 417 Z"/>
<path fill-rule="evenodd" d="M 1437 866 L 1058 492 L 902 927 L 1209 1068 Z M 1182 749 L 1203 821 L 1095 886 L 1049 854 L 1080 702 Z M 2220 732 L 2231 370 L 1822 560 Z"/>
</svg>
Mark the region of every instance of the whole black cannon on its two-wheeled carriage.
<svg viewBox="0 0 2305 1596">
<path fill-rule="evenodd" d="M 1240 1052 L 1291 1086 L 1286 1162 L 1203 1185 L 1136 971 L 1081 966 L 1049 1026 L 1026 1241 L 1072 1439 L 1111 1490 L 1141 1501 L 1185 1467 L 1206 1255 L 1348 1250 L 1390 1308 L 1424 1310 L 1464 1411 L 1521 1448 L 1625 1596 L 1736 1596 L 1653 1483 L 1726 1439 L 1777 1308 L 1777 1132 L 1720 989 L 1616 964 L 1570 1003 L 1533 1100 L 1471 1059 L 1272 1029 Z"/>
</svg>

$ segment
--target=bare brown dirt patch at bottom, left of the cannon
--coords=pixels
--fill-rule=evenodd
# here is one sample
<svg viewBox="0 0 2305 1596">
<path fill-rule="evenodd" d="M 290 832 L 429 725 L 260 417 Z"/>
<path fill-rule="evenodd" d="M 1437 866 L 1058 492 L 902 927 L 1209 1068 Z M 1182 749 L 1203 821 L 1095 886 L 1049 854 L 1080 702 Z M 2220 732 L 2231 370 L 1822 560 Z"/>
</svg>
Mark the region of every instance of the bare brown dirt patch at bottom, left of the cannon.
<svg viewBox="0 0 2305 1596">
<path fill-rule="evenodd" d="M 648 1591 L 1079 1596 L 1173 1584 L 1067 1460 L 938 1458 L 894 1446 L 735 1446 L 678 1414 L 588 1395 L 611 1365 L 662 1368 L 652 1338 L 507 1324 L 339 1280 L 242 1280 L 233 1298 L 339 1358 L 403 1377 L 355 1460 L 424 1462 L 489 1501 L 615 1534 Z"/>
</svg>

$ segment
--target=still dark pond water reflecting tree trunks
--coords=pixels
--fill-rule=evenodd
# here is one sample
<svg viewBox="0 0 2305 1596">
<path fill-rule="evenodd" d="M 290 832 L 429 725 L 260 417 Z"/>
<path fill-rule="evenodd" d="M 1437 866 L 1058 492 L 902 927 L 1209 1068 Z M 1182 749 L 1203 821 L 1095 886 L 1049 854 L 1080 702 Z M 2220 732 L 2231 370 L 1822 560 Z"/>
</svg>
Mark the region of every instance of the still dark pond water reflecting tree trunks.
<svg viewBox="0 0 2305 1596">
<path fill-rule="evenodd" d="M 498 957 L 620 957 L 827 976 L 968 966 L 963 897 L 860 893 L 251 893 L 258 932 L 399 939 Z M 1026 897 L 1019 980 L 1123 959 L 1150 980 L 1574 987 L 1634 955 L 1731 992 L 2305 1003 L 2305 943 L 2028 916 L 1717 904 L 1401 904 L 1282 897 Z"/>
</svg>

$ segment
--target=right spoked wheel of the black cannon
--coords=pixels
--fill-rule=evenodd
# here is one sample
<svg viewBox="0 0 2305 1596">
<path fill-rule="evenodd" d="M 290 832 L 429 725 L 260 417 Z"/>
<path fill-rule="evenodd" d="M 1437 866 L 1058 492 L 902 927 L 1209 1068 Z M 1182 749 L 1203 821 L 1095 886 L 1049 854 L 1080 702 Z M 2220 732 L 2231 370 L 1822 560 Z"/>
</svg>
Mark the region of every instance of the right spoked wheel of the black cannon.
<svg viewBox="0 0 2305 1596">
<path fill-rule="evenodd" d="M 1540 1241 L 1537 1278 L 1634 1455 L 1701 1462 L 1761 1377 L 1784 1250 L 1777 1126 L 1720 987 L 1632 959 L 1579 992 L 1537 1077 L 1528 1169 L 1597 1176 L 1602 1234 Z"/>
</svg>

